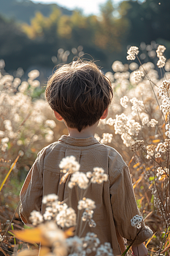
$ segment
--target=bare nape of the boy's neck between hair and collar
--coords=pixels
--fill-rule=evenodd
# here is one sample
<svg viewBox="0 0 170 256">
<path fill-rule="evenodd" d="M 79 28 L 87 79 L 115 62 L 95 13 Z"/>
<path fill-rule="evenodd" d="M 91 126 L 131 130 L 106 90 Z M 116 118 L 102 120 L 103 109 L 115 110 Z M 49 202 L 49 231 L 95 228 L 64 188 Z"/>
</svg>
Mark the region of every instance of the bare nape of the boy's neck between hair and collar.
<svg viewBox="0 0 170 256">
<path fill-rule="evenodd" d="M 67 127 L 67 129 L 69 131 L 69 136 L 73 137 L 73 138 L 78 138 L 78 139 L 86 139 L 89 137 L 94 137 L 95 130 L 96 130 L 98 123 L 99 123 L 99 121 L 96 122 L 94 125 L 88 126 L 87 128 L 81 130 L 80 132 L 78 131 L 78 129 Z"/>
</svg>

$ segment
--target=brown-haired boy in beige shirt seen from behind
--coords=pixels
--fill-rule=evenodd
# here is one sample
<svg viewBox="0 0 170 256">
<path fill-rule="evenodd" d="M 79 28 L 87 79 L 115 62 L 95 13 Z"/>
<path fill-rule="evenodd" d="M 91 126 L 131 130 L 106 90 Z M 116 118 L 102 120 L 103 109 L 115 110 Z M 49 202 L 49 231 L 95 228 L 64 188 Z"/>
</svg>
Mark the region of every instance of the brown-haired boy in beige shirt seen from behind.
<svg viewBox="0 0 170 256">
<path fill-rule="evenodd" d="M 60 184 L 63 174 L 59 169 L 62 158 L 74 155 L 80 163 L 80 171 L 86 173 L 101 167 L 109 175 L 108 181 L 92 184 L 88 189 L 86 197 L 96 204 L 96 228 L 87 226 L 83 236 L 87 232 L 96 233 L 101 243 L 111 243 L 114 256 L 120 255 L 125 250 L 122 237 L 130 244 L 139 232 L 131 226 L 130 220 L 140 213 L 129 169 L 121 155 L 94 138 L 99 120 L 108 115 L 113 97 L 111 82 L 94 63 L 77 60 L 57 69 L 48 81 L 45 95 L 57 120 L 65 122 L 69 136 L 63 135 L 58 142 L 39 152 L 20 193 L 20 217 L 29 224 L 32 210 L 41 210 L 43 214 L 42 197 L 51 193 L 56 193 L 59 201 L 67 199 L 71 193 L 71 207 L 77 212 L 76 190 L 70 192 L 67 186 L 70 175 L 66 183 Z M 135 255 L 138 252 L 139 256 L 147 255 L 143 242 L 150 236 L 152 231 L 142 223 L 133 246 Z"/>
</svg>

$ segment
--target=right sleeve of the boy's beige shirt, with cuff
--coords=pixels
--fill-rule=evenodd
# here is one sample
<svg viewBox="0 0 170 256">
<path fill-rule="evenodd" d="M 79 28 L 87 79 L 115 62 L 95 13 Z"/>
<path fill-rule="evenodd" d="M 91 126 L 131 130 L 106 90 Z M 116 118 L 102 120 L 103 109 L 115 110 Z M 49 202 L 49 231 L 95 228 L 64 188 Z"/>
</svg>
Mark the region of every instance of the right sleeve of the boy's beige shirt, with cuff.
<svg viewBox="0 0 170 256">
<path fill-rule="evenodd" d="M 141 212 L 135 201 L 129 168 L 126 164 L 114 175 L 110 184 L 110 193 L 113 218 L 118 232 L 126 238 L 128 245 L 136 236 L 133 246 L 145 242 L 153 233 L 148 226 L 145 226 L 144 221 L 141 222 L 141 229 L 131 226 L 131 218 L 137 214 L 141 216 Z"/>
</svg>

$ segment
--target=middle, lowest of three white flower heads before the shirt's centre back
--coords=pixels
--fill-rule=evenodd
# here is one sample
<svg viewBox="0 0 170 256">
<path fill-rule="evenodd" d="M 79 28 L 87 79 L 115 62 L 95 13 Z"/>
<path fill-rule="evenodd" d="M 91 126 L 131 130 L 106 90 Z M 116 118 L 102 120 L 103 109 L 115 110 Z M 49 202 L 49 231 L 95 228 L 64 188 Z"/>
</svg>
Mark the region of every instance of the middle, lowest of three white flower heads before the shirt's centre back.
<svg viewBox="0 0 170 256">
<path fill-rule="evenodd" d="M 86 174 L 83 172 L 74 172 L 69 181 L 69 188 L 73 188 L 75 185 L 78 185 L 79 188 L 86 189 L 88 187 L 89 180 L 87 179 Z"/>
</svg>

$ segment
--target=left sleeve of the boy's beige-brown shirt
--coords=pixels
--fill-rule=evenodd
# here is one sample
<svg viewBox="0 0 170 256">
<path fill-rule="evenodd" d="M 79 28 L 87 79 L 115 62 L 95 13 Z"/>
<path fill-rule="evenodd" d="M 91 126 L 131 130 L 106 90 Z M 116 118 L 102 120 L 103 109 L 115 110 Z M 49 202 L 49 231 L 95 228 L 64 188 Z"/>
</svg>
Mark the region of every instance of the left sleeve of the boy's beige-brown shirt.
<svg viewBox="0 0 170 256">
<path fill-rule="evenodd" d="M 40 211 L 43 192 L 43 174 L 39 165 L 39 157 L 29 171 L 20 192 L 20 218 L 26 224 L 32 224 L 29 216 L 33 210 Z"/>
</svg>

